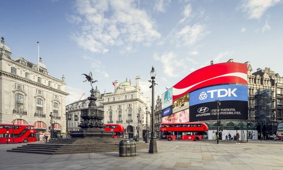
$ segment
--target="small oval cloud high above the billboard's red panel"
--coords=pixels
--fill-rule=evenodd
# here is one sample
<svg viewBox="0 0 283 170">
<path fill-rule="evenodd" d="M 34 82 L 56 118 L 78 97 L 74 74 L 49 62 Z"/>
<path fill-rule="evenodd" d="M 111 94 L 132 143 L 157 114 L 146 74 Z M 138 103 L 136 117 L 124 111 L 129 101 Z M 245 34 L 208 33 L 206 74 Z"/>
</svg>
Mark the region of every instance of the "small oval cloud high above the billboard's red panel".
<svg viewBox="0 0 283 170">
<path fill-rule="evenodd" d="M 209 31 L 205 30 L 205 25 L 197 23 L 193 26 L 185 25 L 179 32 L 174 35 L 174 39 L 177 46 L 192 46 L 207 34 L 209 34 Z"/>
</svg>

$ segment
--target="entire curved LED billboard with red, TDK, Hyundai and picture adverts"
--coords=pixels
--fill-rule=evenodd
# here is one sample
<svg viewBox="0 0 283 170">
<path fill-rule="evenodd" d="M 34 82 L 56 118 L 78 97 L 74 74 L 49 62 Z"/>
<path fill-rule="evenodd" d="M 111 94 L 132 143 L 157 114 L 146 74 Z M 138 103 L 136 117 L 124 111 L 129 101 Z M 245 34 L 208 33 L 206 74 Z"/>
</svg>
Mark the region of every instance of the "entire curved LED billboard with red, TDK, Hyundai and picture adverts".
<svg viewBox="0 0 283 170">
<path fill-rule="evenodd" d="M 247 119 L 246 84 L 246 64 L 229 62 L 198 69 L 163 94 L 162 123 L 215 120 L 215 100 L 221 100 L 219 119 Z"/>
</svg>

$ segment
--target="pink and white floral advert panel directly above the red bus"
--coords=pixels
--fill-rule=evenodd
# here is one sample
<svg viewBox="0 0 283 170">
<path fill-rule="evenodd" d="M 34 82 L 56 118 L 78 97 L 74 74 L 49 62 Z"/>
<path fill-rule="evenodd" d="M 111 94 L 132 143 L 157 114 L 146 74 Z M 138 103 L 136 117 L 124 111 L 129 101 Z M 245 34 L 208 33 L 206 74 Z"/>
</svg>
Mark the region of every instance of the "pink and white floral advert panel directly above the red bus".
<svg viewBox="0 0 283 170">
<path fill-rule="evenodd" d="M 179 122 L 189 122 L 189 110 L 185 109 L 170 116 L 163 117 L 161 119 L 162 123 L 179 123 Z"/>
</svg>

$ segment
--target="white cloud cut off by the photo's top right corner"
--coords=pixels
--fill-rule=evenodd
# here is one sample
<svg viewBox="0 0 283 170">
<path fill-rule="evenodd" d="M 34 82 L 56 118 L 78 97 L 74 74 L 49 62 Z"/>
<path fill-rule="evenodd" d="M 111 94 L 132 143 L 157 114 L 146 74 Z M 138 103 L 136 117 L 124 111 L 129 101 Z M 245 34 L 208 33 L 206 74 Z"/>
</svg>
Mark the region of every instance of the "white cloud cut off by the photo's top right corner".
<svg viewBox="0 0 283 170">
<path fill-rule="evenodd" d="M 241 9 L 249 19 L 260 19 L 264 12 L 278 4 L 281 0 L 243 0 Z"/>
</svg>

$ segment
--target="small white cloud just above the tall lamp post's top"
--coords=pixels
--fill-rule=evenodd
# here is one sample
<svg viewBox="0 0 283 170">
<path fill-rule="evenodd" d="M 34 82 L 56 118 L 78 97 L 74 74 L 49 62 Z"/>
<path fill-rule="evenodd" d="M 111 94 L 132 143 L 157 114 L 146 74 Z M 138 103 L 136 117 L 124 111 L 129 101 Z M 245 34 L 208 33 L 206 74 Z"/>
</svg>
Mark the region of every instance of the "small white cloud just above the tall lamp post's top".
<svg viewBox="0 0 283 170">
<path fill-rule="evenodd" d="M 176 54 L 171 52 L 165 52 L 162 56 L 158 56 L 158 54 L 153 55 L 153 59 L 156 61 L 160 61 L 163 64 L 164 73 L 169 77 L 178 76 L 178 71 L 175 71 L 175 68 L 180 66 L 184 66 L 184 62 L 182 60 L 176 59 Z"/>
</svg>

